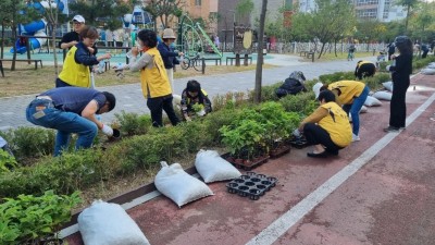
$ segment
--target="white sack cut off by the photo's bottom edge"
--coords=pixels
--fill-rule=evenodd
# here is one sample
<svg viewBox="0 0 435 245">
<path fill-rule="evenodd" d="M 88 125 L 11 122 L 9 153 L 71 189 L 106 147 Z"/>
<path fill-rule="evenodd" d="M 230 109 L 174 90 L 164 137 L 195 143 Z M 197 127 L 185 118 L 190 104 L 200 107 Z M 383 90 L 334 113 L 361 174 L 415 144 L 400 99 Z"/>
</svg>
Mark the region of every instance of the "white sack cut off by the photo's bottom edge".
<svg viewBox="0 0 435 245">
<path fill-rule="evenodd" d="M 149 245 L 135 221 L 117 204 L 96 200 L 78 215 L 85 245 Z"/>
</svg>

